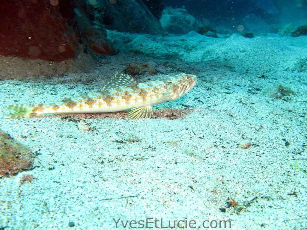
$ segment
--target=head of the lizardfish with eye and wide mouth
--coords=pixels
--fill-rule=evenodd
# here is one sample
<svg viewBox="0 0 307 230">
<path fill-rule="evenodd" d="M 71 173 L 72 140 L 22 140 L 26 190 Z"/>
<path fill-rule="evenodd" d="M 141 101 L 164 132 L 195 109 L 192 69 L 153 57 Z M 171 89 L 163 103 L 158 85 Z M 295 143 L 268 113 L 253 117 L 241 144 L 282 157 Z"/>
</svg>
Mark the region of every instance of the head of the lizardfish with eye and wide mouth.
<svg viewBox="0 0 307 230">
<path fill-rule="evenodd" d="M 168 82 L 169 96 L 172 100 L 181 98 L 187 94 L 195 85 L 197 78 L 191 74 L 178 74 Z"/>
</svg>

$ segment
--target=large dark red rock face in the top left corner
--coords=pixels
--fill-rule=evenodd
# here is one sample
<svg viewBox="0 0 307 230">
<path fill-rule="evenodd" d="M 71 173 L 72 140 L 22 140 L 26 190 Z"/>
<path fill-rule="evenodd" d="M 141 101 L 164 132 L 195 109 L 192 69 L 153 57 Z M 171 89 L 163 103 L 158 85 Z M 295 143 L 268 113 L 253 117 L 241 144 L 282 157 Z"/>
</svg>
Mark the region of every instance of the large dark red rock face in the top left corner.
<svg viewBox="0 0 307 230">
<path fill-rule="evenodd" d="M 75 35 L 68 33 L 59 1 L 3 0 L 0 4 L 0 54 L 63 61 L 75 57 Z"/>
</svg>

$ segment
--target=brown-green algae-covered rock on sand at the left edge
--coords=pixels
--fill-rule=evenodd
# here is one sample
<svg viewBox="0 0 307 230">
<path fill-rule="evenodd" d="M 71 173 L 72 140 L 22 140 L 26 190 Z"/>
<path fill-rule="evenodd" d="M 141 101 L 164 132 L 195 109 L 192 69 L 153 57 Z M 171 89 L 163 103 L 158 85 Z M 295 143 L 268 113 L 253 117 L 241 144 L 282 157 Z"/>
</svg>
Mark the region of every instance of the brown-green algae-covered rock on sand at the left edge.
<svg viewBox="0 0 307 230">
<path fill-rule="evenodd" d="M 33 156 L 29 148 L 0 130 L 0 178 L 31 169 Z"/>
</svg>

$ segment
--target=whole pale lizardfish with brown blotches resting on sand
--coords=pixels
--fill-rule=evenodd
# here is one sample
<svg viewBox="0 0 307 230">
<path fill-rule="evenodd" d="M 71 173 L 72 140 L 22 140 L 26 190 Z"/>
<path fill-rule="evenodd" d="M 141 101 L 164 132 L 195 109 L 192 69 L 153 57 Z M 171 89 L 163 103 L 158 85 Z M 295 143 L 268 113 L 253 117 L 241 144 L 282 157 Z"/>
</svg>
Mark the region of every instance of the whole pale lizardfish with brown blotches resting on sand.
<svg viewBox="0 0 307 230">
<path fill-rule="evenodd" d="M 130 109 L 129 118 L 152 117 L 152 105 L 176 100 L 190 91 L 195 75 L 184 73 L 163 80 L 139 83 L 130 75 L 117 73 L 103 90 L 52 104 L 7 106 L 7 118 L 38 117 L 59 113 L 108 113 Z"/>
</svg>

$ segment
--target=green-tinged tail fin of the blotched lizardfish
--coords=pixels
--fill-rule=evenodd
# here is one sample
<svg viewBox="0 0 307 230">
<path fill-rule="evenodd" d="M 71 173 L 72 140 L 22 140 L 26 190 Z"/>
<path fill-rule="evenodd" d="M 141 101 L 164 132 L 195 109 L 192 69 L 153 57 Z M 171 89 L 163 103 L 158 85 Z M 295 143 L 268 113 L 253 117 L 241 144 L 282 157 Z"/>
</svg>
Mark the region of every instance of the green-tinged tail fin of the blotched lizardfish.
<svg viewBox="0 0 307 230">
<path fill-rule="evenodd" d="M 9 105 L 6 109 L 10 110 L 10 113 L 6 118 L 25 118 L 25 117 L 37 117 L 36 111 L 42 108 L 42 104 L 19 104 L 19 105 Z"/>
</svg>

